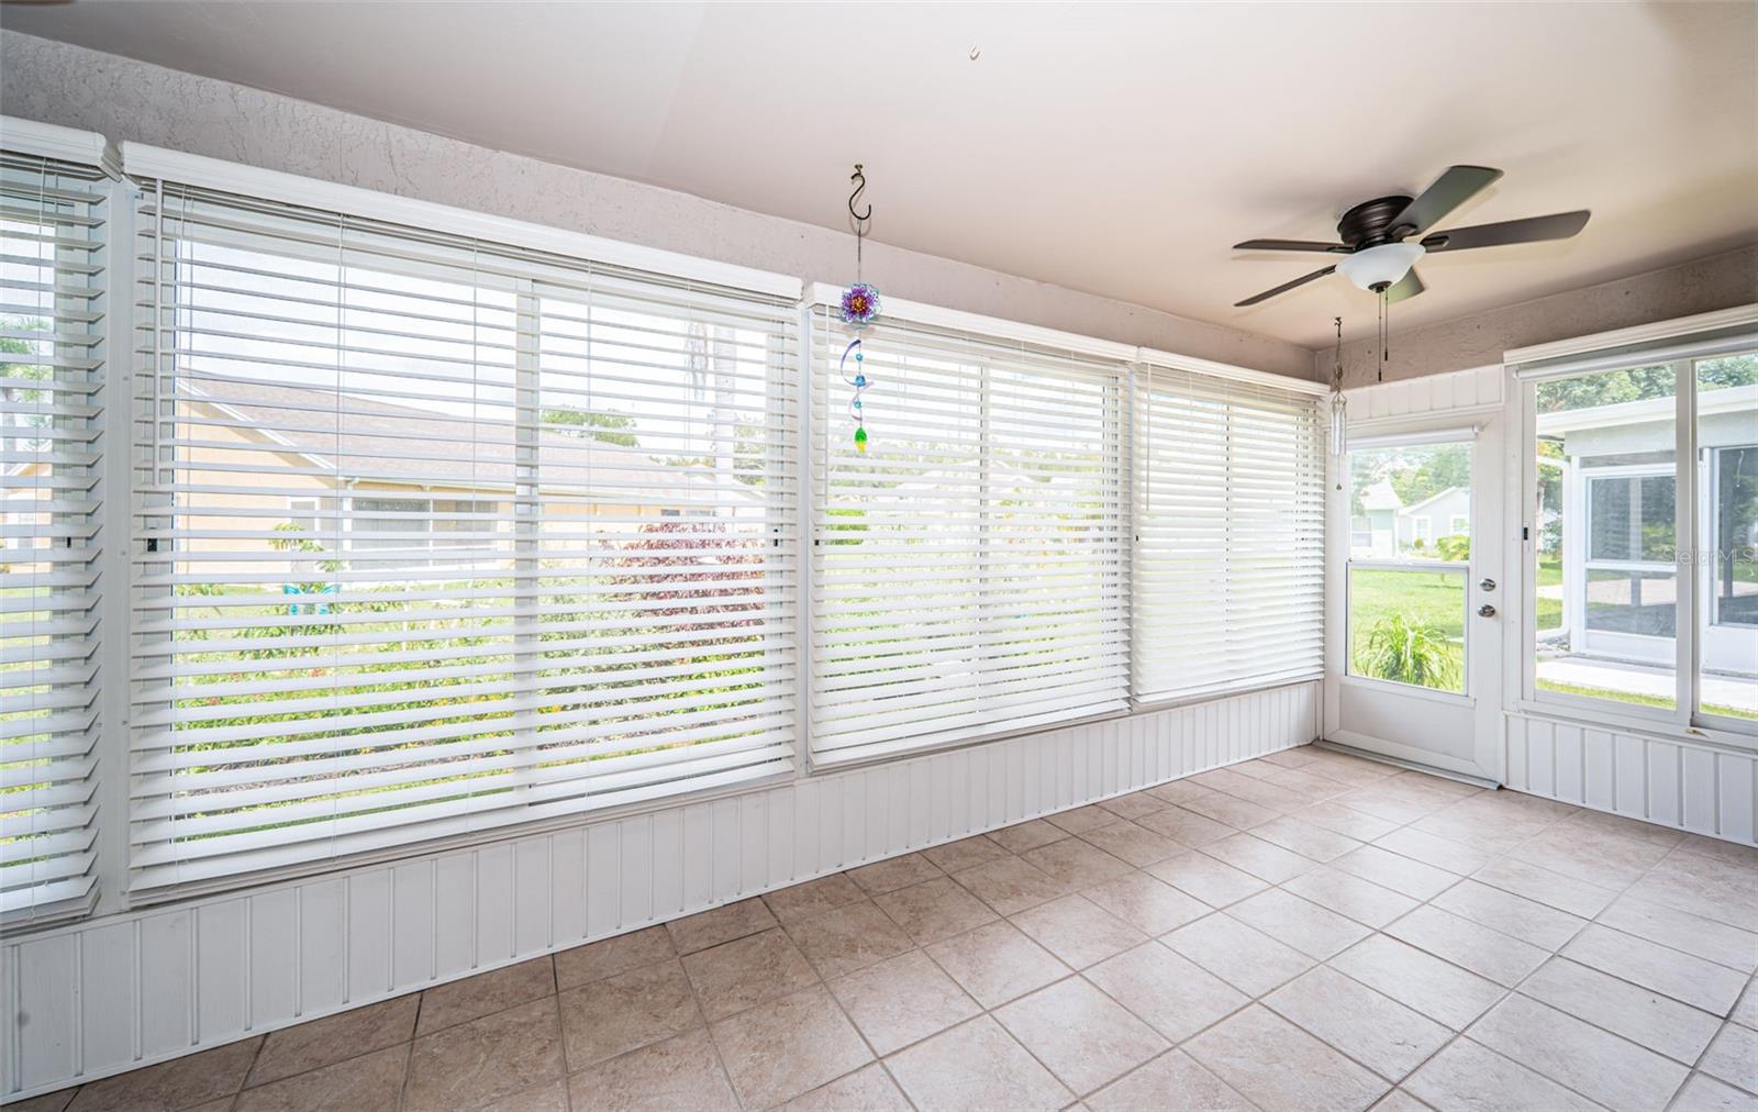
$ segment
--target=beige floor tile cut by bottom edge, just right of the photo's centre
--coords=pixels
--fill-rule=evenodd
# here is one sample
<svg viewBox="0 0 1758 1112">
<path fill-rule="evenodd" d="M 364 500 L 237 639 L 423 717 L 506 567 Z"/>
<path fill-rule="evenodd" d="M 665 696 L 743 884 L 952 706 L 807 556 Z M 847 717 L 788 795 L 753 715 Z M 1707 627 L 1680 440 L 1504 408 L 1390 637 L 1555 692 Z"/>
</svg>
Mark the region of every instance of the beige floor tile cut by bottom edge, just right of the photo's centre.
<svg viewBox="0 0 1758 1112">
<path fill-rule="evenodd" d="M 1057 1112 L 1074 1094 L 992 1017 L 979 1015 L 886 1059 L 918 1108 Z"/>
</svg>

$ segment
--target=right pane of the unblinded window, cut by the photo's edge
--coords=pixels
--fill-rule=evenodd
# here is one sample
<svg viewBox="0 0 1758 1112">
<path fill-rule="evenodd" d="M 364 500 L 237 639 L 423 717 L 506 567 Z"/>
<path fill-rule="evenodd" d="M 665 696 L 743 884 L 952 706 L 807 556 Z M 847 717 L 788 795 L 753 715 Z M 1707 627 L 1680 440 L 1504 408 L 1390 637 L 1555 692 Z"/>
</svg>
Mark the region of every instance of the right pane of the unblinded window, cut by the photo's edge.
<svg viewBox="0 0 1758 1112">
<path fill-rule="evenodd" d="M 1758 720 L 1758 354 L 1702 359 L 1696 452 L 1698 575 L 1707 714 Z"/>
</svg>

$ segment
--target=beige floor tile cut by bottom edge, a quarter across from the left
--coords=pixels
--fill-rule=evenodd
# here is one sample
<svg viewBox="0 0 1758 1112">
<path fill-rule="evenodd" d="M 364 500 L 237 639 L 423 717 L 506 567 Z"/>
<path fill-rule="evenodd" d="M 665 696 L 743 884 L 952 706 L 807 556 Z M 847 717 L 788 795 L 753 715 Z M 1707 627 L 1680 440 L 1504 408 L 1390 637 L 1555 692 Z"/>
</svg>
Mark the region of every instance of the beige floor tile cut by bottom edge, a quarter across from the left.
<svg viewBox="0 0 1758 1112">
<path fill-rule="evenodd" d="M 556 998 L 536 999 L 417 1038 L 403 1108 L 476 1108 L 564 1073 Z"/>
</svg>

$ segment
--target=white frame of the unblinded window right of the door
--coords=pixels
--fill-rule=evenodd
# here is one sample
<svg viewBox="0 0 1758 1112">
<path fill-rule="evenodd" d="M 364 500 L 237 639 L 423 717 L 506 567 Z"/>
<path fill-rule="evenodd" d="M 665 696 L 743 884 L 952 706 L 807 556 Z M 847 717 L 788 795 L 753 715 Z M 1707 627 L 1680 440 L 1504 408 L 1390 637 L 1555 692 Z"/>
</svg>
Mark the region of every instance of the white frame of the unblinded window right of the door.
<svg viewBox="0 0 1758 1112">
<path fill-rule="evenodd" d="M 1647 347 L 1644 347 L 1647 345 Z M 1538 345 L 1503 354 L 1510 375 L 1512 406 L 1515 410 L 1515 496 L 1510 498 L 1508 526 L 1519 545 L 1519 600 L 1521 621 L 1510 630 L 1514 639 L 1508 665 L 1510 684 L 1507 709 L 1521 714 L 1565 716 L 1577 721 L 1640 734 L 1667 734 L 1709 741 L 1740 751 L 1758 751 L 1758 730 L 1751 721 L 1725 714 L 1711 714 L 1702 704 L 1702 637 L 1704 574 L 1695 558 L 1704 533 L 1698 484 L 1698 389 L 1696 364 L 1714 355 L 1758 350 L 1758 304 L 1735 306 L 1714 313 L 1684 317 L 1638 326 L 1616 333 L 1582 336 L 1552 345 Z M 1603 355 L 1595 357 L 1595 354 Z M 1545 378 L 1568 378 L 1586 373 L 1617 371 L 1640 366 L 1670 364 L 1674 371 L 1674 540 L 1688 552 L 1672 563 L 1658 563 L 1656 570 L 1675 575 L 1674 616 L 1674 706 L 1647 707 L 1595 699 L 1566 691 L 1545 691 L 1536 686 L 1536 572 L 1538 537 L 1542 523 L 1535 514 L 1531 491 L 1536 489 L 1542 466 L 1533 445 L 1538 431 L 1536 387 Z M 1654 465 L 1626 465 L 1616 468 L 1580 468 L 1572 477 L 1586 491 L 1584 473 L 1591 472 L 1651 472 Z M 1584 500 L 1586 501 L 1586 500 Z M 1679 545 L 1679 538 L 1689 538 Z M 1617 570 L 1645 570 L 1651 561 L 1617 561 Z M 1609 565 L 1610 567 L 1610 565 Z M 1586 574 L 1586 563 L 1584 572 Z"/>
</svg>

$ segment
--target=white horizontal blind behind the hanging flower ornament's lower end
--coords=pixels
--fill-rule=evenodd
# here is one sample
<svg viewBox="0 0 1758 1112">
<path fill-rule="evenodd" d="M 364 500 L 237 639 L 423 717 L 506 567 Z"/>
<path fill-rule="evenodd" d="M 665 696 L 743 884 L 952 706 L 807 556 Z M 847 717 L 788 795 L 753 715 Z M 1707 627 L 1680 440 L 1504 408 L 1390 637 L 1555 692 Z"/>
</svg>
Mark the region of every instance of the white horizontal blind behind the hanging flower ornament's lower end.
<svg viewBox="0 0 1758 1112">
<path fill-rule="evenodd" d="M 814 757 L 1127 707 L 1127 368 L 881 318 L 861 343 L 863 456 L 847 340 L 821 310 Z"/>
</svg>

